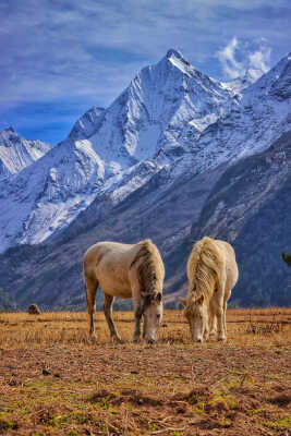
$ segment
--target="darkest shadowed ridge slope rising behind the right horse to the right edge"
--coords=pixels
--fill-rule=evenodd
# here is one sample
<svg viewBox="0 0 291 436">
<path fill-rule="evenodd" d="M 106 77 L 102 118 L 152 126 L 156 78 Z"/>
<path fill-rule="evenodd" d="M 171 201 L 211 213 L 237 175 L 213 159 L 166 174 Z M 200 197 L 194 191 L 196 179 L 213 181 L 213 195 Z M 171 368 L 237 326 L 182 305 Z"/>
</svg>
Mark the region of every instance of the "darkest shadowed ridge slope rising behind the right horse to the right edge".
<svg viewBox="0 0 291 436">
<path fill-rule="evenodd" d="M 291 131 L 268 150 L 223 172 L 198 222 L 173 253 L 175 263 L 185 264 L 192 243 L 205 234 L 229 241 L 240 269 L 233 304 L 291 305 L 290 271 L 281 259 L 281 252 L 291 246 L 290 189 Z M 185 292 L 185 270 L 170 272 L 169 280 L 173 283 L 170 291 L 180 287 L 180 294 Z"/>
</svg>

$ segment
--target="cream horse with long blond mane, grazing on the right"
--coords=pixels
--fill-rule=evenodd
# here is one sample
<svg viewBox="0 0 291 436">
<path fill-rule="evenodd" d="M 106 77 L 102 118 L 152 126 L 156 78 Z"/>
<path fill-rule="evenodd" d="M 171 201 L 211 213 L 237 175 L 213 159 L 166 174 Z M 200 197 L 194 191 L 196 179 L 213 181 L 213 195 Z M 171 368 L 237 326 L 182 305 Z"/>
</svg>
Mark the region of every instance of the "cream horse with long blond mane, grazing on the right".
<svg viewBox="0 0 291 436">
<path fill-rule="evenodd" d="M 205 237 L 194 245 L 187 261 L 187 296 L 180 299 L 193 341 L 207 340 L 209 326 L 210 335 L 215 335 L 216 320 L 218 340 L 227 340 L 227 301 L 238 277 L 230 244 Z"/>
</svg>

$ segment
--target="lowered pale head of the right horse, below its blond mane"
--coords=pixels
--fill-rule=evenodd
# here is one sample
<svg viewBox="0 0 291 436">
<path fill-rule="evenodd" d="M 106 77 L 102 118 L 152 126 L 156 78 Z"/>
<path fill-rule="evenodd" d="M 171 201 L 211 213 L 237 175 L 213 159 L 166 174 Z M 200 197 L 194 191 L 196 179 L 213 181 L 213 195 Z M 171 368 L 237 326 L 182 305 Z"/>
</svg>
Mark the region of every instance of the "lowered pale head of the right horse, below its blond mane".
<svg viewBox="0 0 291 436">
<path fill-rule="evenodd" d="M 184 305 L 184 315 L 189 322 L 192 340 L 203 342 L 208 331 L 208 310 L 205 296 L 201 295 L 196 300 L 180 299 Z"/>
</svg>

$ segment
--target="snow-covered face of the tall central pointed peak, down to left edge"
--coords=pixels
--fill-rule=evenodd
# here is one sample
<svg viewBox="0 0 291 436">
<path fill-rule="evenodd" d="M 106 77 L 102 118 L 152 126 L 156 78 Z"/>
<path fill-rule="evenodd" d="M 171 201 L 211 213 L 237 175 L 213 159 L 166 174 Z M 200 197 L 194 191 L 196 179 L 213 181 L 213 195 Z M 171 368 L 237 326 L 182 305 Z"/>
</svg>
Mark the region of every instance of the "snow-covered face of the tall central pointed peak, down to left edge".
<svg viewBox="0 0 291 436">
<path fill-rule="evenodd" d="M 96 195 L 123 185 L 123 198 L 190 153 L 193 141 L 233 105 L 234 93 L 169 50 L 108 109 L 90 109 L 64 142 L 1 186 L 1 250 L 63 230 Z M 144 177 L 147 159 L 155 161 Z"/>
</svg>

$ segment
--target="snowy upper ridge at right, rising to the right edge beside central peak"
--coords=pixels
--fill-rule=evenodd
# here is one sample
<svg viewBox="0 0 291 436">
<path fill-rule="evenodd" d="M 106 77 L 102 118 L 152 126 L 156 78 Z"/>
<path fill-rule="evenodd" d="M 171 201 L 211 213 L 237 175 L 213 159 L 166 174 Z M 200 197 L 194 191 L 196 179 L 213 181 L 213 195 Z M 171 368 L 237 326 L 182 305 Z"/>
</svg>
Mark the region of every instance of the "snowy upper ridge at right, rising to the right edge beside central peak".
<svg viewBox="0 0 291 436">
<path fill-rule="evenodd" d="M 198 171 L 267 149 L 291 128 L 291 55 L 245 88 L 239 106 L 193 137 Z"/>
</svg>

